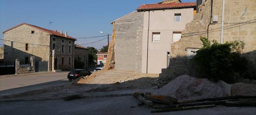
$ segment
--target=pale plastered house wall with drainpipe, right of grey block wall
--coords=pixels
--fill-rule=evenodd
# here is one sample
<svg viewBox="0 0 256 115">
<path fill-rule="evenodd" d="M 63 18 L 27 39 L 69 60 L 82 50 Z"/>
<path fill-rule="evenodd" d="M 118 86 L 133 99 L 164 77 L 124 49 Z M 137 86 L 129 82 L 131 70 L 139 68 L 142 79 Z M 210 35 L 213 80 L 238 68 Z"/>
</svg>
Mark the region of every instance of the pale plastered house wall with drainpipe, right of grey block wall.
<svg viewBox="0 0 256 115">
<path fill-rule="evenodd" d="M 181 14 L 181 22 L 174 22 L 174 14 Z M 193 8 L 150 11 L 149 48 L 147 66 L 147 36 L 149 12 L 144 12 L 142 73 L 161 73 L 167 67 L 167 52 L 170 52 L 172 33 L 181 32 L 193 20 Z M 161 32 L 160 42 L 152 41 L 152 32 Z M 170 65 L 172 66 L 172 65 Z"/>
</svg>

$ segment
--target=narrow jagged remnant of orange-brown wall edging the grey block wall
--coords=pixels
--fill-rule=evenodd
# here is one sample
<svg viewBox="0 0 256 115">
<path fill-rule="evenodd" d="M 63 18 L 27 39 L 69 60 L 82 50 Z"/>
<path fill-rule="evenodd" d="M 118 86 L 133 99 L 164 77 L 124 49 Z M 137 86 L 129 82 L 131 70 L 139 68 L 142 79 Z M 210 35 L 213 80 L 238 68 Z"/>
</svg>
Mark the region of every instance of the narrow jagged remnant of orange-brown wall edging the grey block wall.
<svg viewBox="0 0 256 115">
<path fill-rule="evenodd" d="M 115 68 L 115 23 L 113 23 L 113 34 L 111 36 L 111 42 L 107 51 L 107 61 L 104 66 L 104 70 L 110 70 Z"/>
</svg>

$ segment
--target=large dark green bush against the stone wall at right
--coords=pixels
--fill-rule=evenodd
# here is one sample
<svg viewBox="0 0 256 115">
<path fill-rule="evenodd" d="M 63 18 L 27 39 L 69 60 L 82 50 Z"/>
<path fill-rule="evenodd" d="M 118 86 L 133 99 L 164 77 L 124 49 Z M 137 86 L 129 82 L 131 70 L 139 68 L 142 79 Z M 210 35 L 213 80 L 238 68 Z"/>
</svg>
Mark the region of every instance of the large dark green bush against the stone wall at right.
<svg viewBox="0 0 256 115">
<path fill-rule="evenodd" d="M 234 83 L 234 74 L 239 73 L 243 77 L 248 75 L 249 61 L 241 55 L 245 43 L 241 41 L 226 42 L 220 44 L 213 40 L 212 44 L 206 38 L 201 37 L 203 47 L 196 51 L 193 61 L 200 71 L 202 78 Z"/>
</svg>

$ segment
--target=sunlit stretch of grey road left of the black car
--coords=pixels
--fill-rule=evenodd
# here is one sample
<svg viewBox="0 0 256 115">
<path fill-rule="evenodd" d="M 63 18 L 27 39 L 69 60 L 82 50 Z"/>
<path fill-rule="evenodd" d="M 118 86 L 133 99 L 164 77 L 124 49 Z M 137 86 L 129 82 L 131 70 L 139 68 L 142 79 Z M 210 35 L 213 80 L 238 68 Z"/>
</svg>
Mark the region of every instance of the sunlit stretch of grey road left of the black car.
<svg viewBox="0 0 256 115">
<path fill-rule="evenodd" d="M 68 72 L 0 78 L 0 96 L 70 83 Z"/>
</svg>

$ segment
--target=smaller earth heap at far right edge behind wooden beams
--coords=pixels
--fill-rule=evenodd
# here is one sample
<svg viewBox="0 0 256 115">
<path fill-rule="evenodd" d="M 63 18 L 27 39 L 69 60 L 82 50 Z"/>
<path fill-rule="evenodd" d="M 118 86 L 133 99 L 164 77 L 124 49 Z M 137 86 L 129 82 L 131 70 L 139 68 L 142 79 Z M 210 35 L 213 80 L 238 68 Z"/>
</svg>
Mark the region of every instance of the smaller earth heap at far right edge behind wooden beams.
<svg viewBox="0 0 256 115">
<path fill-rule="evenodd" d="M 256 85 L 246 83 L 231 84 L 231 96 L 256 96 Z"/>
</svg>

